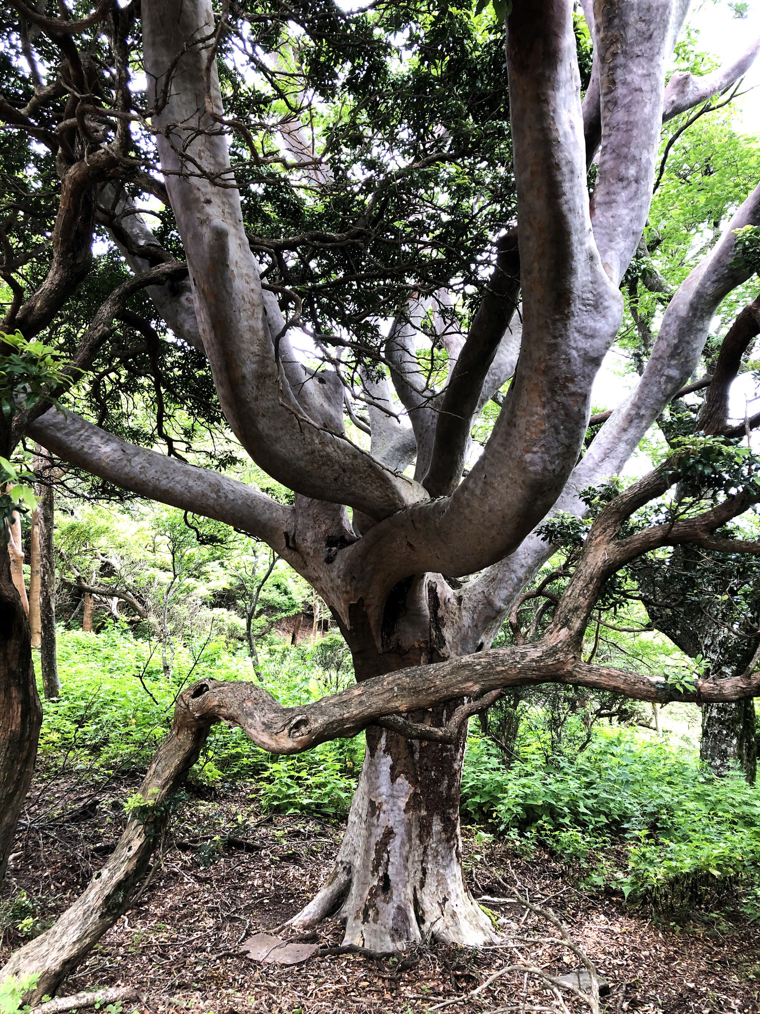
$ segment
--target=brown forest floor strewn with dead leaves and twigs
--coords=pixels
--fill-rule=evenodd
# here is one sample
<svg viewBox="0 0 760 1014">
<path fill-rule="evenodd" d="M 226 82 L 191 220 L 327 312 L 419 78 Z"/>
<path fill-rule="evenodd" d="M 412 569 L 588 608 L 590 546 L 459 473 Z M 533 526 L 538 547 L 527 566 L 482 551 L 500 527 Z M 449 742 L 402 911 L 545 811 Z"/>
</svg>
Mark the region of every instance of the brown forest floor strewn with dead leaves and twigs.
<svg viewBox="0 0 760 1014">
<path fill-rule="evenodd" d="M 137 784 L 136 775 L 94 790 L 61 780 L 32 789 L 3 895 L 6 922 L 8 906 L 16 901 L 0 956 L 23 942 L 19 916 L 32 912 L 39 931 L 76 897 L 112 850 L 124 800 Z M 251 791 L 237 785 L 189 797 L 137 903 L 69 975 L 60 995 L 135 986 L 142 1000 L 125 1004 L 125 1014 L 424 1014 L 446 1001 L 456 1001 L 445 1008 L 450 1014 L 556 1010 L 555 998 L 539 982 L 516 973 L 467 998 L 516 960 L 529 959 L 557 974 L 579 964 L 564 948 L 517 940 L 533 931 L 555 933 L 534 915 L 516 912 L 514 903 L 490 900 L 503 896 L 508 883 L 534 903 L 548 904 L 583 947 L 609 983 L 603 1009 L 760 1011 L 760 925 L 737 913 L 658 917 L 611 895 L 589 895 L 548 855 L 521 858 L 498 839 L 483 843 L 467 828 L 469 886 L 507 920 L 503 945 L 471 951 L 434 944 L 395 962 L 352 954 L 291 966 L 253 961 L 240 951 L 241 943 L 282 924 L 314 894 L 343 828 L 300 814 L 261 816 Z M 225 845 L 225 835 L 238 844 Z M 18 901 L 19 891 L 25 891 L 25 901 Z M 27 917 L 27 929 L 28 923 Z M 314 939 L 339 943 L 339 925 L 324 924 Z M 569 998 L 566 1003 L 571 1010 L 585 1009 Z"/>
</svg>

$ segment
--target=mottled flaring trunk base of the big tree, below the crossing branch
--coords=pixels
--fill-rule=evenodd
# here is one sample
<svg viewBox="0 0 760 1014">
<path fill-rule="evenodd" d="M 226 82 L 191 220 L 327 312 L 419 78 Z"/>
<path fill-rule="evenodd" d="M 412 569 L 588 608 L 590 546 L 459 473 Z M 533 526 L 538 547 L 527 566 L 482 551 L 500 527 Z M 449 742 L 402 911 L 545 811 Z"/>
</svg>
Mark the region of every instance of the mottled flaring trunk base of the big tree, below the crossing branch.
<svg viewBox="0 0 760 1014">
<path fill-rule="evenodd" d="M 449 714 L 457 703 L 447 706 Z M 446 710 L 434 709 L 427 717 L 444 724 Z M 464 744 L 464 734 L 446 745 L 403 739 L 376 726 L 367 730 L 362 775 L 335 865 L 292 921 L 294 927 L 336 917 L 346 926 L 344 943 L 378 951 L 430 939 L 464 947 L 497 939 L 462 873 Z"/>
</svg>

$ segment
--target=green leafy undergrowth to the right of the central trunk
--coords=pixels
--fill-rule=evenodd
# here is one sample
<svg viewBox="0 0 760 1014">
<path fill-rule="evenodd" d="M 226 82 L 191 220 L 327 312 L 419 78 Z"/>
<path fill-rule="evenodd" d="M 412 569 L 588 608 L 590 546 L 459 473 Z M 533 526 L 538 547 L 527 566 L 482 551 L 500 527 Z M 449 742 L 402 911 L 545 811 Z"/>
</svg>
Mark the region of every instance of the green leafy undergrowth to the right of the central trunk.
<svg viewBox="0 0 760 1014">
<path fill-rule="evenodd" d="M 587 886 L 619 887 L 661 909 L 739 895 L 752 906 L 760 884 L 760 790 L 629 730 L 598 733 L 573 762 L 545 766 L 536 755 L 509 771 L 473 737 L 462 809 L 576 863 Z"/>
</svg>

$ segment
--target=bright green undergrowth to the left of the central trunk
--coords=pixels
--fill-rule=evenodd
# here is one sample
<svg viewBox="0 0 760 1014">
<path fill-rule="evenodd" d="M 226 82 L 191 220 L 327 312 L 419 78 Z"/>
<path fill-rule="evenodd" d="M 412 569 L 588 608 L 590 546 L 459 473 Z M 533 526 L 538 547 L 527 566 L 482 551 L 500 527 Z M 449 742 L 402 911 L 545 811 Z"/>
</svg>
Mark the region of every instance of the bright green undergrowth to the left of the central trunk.
<svg viewBox="0 0 760 1014">
<path fill-rule="evenodd" d="M 196 679 L 251 679 L 244 649 L 231 652 L 210 642 L 200 661 L 176 653 L 174 675 L 163 675 L 160 651 L 147 641 L 110 627 L 98 635 L 59 631 L 63 696 L 47 702 L 41 754 L 52 772 L 143 769 L 171 724 L 177 693 Z M 312 662 L 314 649 L 262 647 L 263 685 L 284 705 L 321 697 L 324 673 Z M 241 729 L 215 725 L 191 780 L 206 785 L 255 781 L 271 810 L 327 816 L 348 812 L 364 755 L 363 737 L 334 740 L 297 757 L 273 757 Z"/>
</svg>

